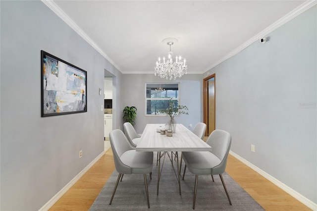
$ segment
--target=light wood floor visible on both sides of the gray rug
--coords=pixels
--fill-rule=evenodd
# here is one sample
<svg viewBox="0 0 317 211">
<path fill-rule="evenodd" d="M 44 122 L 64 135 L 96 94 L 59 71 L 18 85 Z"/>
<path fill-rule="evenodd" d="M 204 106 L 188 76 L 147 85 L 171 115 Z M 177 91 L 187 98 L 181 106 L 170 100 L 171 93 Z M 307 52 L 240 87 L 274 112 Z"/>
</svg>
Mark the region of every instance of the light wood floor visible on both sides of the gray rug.
<svg viewBox="0 0 317 211">
<path fill-rule="evenodd" d="M 111 149 L 100 158 L 50 209 L 88 211 L 114 170 Z M 266 211 L 310 211 L 250 167 L 228 156 L 226 172 Z"/>
</svg>

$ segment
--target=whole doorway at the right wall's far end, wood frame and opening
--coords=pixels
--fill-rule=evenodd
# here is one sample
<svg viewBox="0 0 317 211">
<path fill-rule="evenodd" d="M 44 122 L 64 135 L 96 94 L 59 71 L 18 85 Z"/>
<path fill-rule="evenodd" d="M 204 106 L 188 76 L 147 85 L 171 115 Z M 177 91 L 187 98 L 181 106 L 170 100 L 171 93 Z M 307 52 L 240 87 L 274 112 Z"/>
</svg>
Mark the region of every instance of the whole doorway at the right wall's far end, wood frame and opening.
<svg viewBox="0 0 317 211">
<path fill-rule="evenodd" d="M 204 123 L 207 125 L 205 136 L 215 130 L 215 74 L 204 78 Z"/>
</svg>

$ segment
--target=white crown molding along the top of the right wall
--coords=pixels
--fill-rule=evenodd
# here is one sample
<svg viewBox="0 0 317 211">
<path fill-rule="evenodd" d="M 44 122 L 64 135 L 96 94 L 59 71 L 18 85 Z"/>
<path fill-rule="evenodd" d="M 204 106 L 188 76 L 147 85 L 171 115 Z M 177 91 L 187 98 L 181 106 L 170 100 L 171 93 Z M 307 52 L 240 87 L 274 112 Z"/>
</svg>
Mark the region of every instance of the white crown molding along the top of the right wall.
<svg viewBox="0 0 317 211">
<path fill-rule="evenodd" d="M 228 53 L 227 55 L 225 55 L 224 57 L 222 57 L 218 61 L 214 62 L 208 69 L 206 69 L 203 72 L 205 73 L 205 72 L 211 70 L 213 67 L 217 66 L 221 62 L 223 62 L 223 61 L 227 60 L 228 58 L 231 58 L 232 56 L 242 52 L 244 49 L 246 49 L 248 46 L 250 46 L 254 42 L 258 41 L 259 39 L 261 39 L 265 35 L 269 34 L 272 31 L 274 31 L 278 27 L 282 26 L 284 23 L 290 21 L 291 19 L 293 19 L 297 15 L 303 13 L 304 11 L 306 11 L 307 9 L 311 8 L 312 6 L 314 6 L 316 4 L 317 4 L 317 0 L 307 0 L 305 3 L 299 5 L 298 7 L 296 7 L 292 11 L 290 11 L 284 17 L 282 17 L 281 19 L 279 19 L 276 22 L 274 22 L 272 25 L 270 25 L 269 27 L 264 29 L 262 32 L 260 32 L 257 35 L 255 35 L 253 38 L 251 38 L 250 40 L 248 40 L 247 42 L 245 42 L 244 44 L 242 44 L 241 46 L 239 46 L 238 48 L 236 48 L 232 52 Z"/>
</svg>

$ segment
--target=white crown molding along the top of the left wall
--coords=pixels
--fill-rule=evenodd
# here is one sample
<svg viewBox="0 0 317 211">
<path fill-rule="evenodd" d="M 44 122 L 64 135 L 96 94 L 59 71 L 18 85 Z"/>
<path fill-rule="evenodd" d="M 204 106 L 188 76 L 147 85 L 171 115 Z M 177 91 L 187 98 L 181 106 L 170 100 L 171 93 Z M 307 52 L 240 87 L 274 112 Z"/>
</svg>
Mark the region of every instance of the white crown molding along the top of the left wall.
<svg viewBox="0 0 317 211">
<path fill-rule="evenodd" d="M 53 0 L 42 0 L 42 2 L 122 73 L 119 66 Z"/>
</svg>

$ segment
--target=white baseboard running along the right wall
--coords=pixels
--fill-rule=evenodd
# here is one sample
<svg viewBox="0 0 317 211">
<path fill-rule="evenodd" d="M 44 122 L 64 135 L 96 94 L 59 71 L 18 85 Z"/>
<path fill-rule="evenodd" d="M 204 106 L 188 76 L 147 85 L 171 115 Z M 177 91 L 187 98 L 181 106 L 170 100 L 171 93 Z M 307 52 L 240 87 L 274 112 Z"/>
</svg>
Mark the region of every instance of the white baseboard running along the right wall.
<svg viewBox="0 0 317 211">
<path fill-rule="evenodd" d="M 281 181 L 279 181 L 276 178 L 272 177 L 271 175 L 269 175 L 268 173 L 266 173 L 262 169 L 258 168 L 257 166 L 255 166 L 254 164 L 252 164 L 248 160 L 240 157 L 239 155 L 235 154 L 234 152 L 230 151 L 229 154 L 232 155 L 233 157 L 237 158 L 238 160 L 240 160 L 241 162 L 243 162 L 244 164 L 246 164 L 247 166 L 249 166 L 250 168 L 252 168 L 256 172 L 258 172 L 262 176 L 264 176 L 270 182 L 272 182 L 277 187 L 279 187 L 282 190 L 284 190 L 286 193 L 290 194 L 292 197 L 294 197 L 295 199 L 297 199 L 298 201 L 300 201 L 301 203 L 303 203 L 304 205 L 306 205 L 307 207 L 309 207 L 313 211 L 317 211 L 317 204 L 315 204 L 311 200 L 307 199 L 306 197 L 304 197 L 300 193 L 298 193 L 295 190 L 291 189 L 290 187 L 288 187 L 287 185 L 285 185 Z"/>
</svg>

